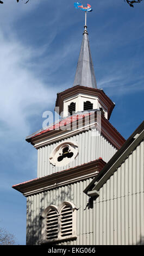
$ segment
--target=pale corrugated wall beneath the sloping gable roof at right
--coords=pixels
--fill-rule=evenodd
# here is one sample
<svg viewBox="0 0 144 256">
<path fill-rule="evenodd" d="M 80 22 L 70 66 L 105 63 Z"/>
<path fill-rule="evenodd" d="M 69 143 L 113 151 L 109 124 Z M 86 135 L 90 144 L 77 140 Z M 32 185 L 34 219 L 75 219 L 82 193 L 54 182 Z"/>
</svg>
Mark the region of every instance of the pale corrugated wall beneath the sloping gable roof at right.
<svg viewBox="0 0 144 256">
<path fill-rule="evenodd" d="M 144 239 L 143 142 L 100 189 L 96 245 L 136 245 Z"/>
</svg>

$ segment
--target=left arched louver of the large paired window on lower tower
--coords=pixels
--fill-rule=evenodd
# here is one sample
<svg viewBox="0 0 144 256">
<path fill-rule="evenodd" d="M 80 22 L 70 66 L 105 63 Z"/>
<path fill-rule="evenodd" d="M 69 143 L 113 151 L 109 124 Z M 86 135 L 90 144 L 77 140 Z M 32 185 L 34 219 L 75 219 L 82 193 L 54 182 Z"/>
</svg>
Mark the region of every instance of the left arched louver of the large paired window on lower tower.
<svg viewBox="0 0 144 256">
<path fill-rule="evenodd" d="M 58 214 L 51 209 L 47 214 L 46 219 L 46 239 L 58 238 Z"/>
</svg>

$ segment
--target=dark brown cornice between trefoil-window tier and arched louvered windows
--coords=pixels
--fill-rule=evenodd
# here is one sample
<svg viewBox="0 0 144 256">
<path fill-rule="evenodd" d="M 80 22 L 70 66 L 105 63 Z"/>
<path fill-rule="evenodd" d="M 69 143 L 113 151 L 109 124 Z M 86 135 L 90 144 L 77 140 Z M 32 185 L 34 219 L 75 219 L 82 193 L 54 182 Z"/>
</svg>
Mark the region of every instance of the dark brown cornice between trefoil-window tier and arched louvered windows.
<svg viewBox="0 0 144 256">
<path fill-rule="evenodd" d="M 103 169 L 105 164 L 106 163 L 102 159 L 98 159 L 82 164 L 81 166 L 76 166 L 74 168 L 44 176 L 42 178 L 37 178 L 14 185 L 12 188 L 23 193 L 23 195 L 27 197 L 31 194 L 44 192 L 52 188 L 77 182 L 79 180 L 93 178 Z"/>
</svg>

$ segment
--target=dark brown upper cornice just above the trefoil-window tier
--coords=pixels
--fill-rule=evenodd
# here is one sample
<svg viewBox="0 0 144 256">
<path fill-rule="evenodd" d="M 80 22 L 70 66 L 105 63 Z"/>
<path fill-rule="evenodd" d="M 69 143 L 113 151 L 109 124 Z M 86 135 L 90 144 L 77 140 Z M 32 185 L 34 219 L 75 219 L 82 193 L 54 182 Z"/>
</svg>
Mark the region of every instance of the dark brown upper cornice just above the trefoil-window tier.
<svg viewBox="0 0 144 256">
<path fill-rule="evenodd" d="M 97 112 L 96 112 L 97 113 Z M 76 135 L 77 133 L 84 132 L 86 130 L 92 129 L 92 127 L 97 127 L 97 114 L 95 113 L 95 123 L 90 124 L 90 117 L 84 117 L 82 120 L 82 127 L 78 127 L 78 120 L 72 123 L 73 130 L 51 130 L 41 135 L 32 137 L 29 139 L 30 142 L 36 149 L 40 147 L 44 147 L 48 144 L 60 141 L 61 139 L 65 139 L 71 136 Z M 71 124 L 70 124 L 71 125 Z M 97 127 L 98 129 L 98 127 Z M 108 139 L 108 141 L 114 145 L 116 149 L 120 149 L 123 143 L 126 141 L 121 134 L 112 126 L 107 119 L 101 115 L 101 133 L 102 135 Z"/>
</svg>

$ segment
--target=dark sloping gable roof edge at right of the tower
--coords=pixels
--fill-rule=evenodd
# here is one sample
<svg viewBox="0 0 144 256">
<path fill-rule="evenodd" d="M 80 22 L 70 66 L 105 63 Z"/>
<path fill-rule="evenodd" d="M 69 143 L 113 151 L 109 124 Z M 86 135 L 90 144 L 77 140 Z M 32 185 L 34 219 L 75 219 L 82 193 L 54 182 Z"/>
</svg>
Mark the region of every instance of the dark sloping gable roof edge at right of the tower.
<svg viewBox="0 0 144 256">
<path fill-rule="evenodd" d="M 101 173 L 99 173 L 85 188 L 84 193 L 88 196 L 98 196 L 99 189 L 110 178 L 120 164 L 126 159 L 126 157 L 139 145 L 144 139 L 144 121 L 139 127 L 132 133 L 122 147 L 111 157 L 109 162 L 105 164 Z"/>
</svg>

